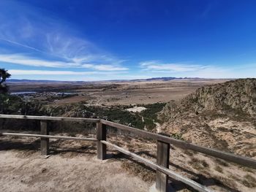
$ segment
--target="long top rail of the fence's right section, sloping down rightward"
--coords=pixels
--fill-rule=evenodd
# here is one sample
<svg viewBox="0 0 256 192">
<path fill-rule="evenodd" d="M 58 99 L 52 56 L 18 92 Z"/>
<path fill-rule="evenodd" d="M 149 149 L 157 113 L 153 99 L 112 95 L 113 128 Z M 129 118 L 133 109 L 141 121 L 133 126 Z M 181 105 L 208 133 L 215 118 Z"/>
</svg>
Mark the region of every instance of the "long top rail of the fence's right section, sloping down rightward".
<svg viewBox="0 0 256 192">
<path fill-rule="evenodd" d="M 246 157 L 243 157 L 241 155 L 235 155 L 233 153 L 227 153 L 227 152 L 224 152 L 224 151 L 221 151 L 221 150 L 215 150 L 215 149 L 211 149 L 211 148 L 208 148 L 208 147 L 201 147 L 201 146 L 189 143 L 189 142 L 184 142 L 184 141 L 181 141 L 181 140 L 178 140 L 178 139 L 173 139 L 173 138 L 166 137 L 166 136 L 163 136 L 163 135 L 160 135 L 160 134 L 154 134 L 154 133 L 151 133 L 151 132 L 148 132 L 148 131 L 143 131 L 143 130 L 138 129 L 138 128 L 132 128 L 130 126 L 124 126 L 124 125 L 121 125 L 119 123 L 113 123 L 113 122 L 110 122 L 108 120 L 100 120 L 100 121 L 101 121 L 101 123 L 103 123 L 107 126 L 112 126 L 112 127 L 124 130 L 124 131 L 129 131 L 129 132 L 138 134 L 141 137 L 145 137 L 147 139 L 156 139 L 156 140 L 159 140 L 159 141 L 162 141 L 162 142 L 167 142 L 167 143 L 176 145 L 178 147 L 181 147 L 181 148 L 184 148 L 184 149 L 187 149 L 187 150 L 195 150 L 197 152 L 204 153 L 206 155 L 211 155 L 211 156 L 214 156 L 216 158 L 221 158 L 221 159 L 224 159 L 226 161 L 231 161 L 231 162 L 236 163 L 236 164 L 240 164 L 240 165 L 243 165 L 243 166 L 249 166 L 249 167 L 252 167 L 253 169 L 256 169 L 256 160 L 253 159 L 253 158 L 246 158 Z"/>
</svg>

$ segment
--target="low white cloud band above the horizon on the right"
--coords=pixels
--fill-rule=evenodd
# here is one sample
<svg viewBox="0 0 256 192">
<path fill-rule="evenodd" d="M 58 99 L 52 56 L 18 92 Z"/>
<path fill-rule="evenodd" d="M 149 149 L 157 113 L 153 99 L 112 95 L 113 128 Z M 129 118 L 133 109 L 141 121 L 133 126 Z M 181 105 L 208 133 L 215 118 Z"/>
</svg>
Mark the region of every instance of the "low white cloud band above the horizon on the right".
<svg viewBox="0 0 256 192">
<path fill-rule="evenodd" d="M 255 77 L 256 64 L 240 66 L 164 63 L 161 61 L 140 62 L 140 68 L 152 77 L 200 77 L 200 78 L 245 78 Z"/>
</svg>

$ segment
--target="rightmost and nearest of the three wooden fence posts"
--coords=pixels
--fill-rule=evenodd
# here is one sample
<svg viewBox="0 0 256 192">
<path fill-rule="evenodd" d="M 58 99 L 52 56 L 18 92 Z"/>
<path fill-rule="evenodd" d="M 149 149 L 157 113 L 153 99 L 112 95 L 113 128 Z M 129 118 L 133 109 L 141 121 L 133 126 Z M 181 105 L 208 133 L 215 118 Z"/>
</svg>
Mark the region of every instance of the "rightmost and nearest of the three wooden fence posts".
<svg viewBox="0 0 256 192">
<path fill-rule="evenodd" d="M 162 134 L 170 137 L 170 135 Z M 170 158 L 170 144 L 166 142 L 157 141 L 157 164 L 169 168 Z M 165 173 L 157 170 L 156 175 L 156 188 L 157 191 L 167 192 L 168 191 L 168 179 L 169 176 Z"/>
</svg>

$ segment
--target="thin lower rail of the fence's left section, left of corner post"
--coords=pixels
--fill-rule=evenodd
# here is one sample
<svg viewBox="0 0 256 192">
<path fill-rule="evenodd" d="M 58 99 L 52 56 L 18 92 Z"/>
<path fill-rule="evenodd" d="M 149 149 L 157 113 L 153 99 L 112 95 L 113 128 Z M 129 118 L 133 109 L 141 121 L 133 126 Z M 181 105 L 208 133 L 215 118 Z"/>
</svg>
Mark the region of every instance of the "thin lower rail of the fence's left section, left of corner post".
<svg viewBox="0 0 256 192">
<path fill-rule="evenodd" d="M 49 139 L 83 140 L 83 141 L 97 142 L 97 139 L 94 139 L 94 138 L 83 138 L 83 137 L 64 137 L 64 136 L 44 135 L 44 134 L 16 134 L 16 133 L 0 133 L 0 136 L 40 137 L 40 138 L 49 138 Z"/>
</svg>

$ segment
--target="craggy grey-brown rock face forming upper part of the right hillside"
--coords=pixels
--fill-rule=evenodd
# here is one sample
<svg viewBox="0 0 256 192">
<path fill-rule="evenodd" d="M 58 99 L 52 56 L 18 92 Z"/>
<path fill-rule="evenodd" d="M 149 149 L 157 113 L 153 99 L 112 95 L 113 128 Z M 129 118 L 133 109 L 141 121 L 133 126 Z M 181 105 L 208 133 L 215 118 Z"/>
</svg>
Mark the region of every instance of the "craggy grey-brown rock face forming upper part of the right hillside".
<svg viewBox="0 0 256 192">
<path fill-rule="evenodd" d="M 178 103 L 167 104 L 162 113 L 168 116 L 187 110 L 202 113 L 228 108 L 256 115 L 256 79 L 233 80 L 199 88 Z"/>
</svg>

